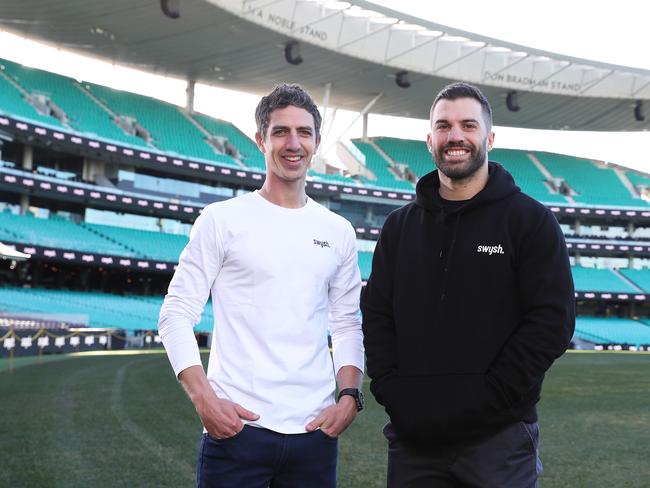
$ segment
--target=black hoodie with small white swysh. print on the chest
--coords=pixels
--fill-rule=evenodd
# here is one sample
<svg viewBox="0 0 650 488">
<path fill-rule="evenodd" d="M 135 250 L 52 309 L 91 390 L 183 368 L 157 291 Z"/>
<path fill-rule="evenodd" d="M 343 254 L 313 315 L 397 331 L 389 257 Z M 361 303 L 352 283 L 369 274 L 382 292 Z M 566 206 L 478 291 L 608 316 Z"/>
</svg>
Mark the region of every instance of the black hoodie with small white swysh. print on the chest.
<svg viewBox="0 0 650 488">
<path fill-rule="evenodd" d="M 544 373 L 573 335 L 575 299 L 553 214 L 489 163 L 460 206 L 438 172 L 382 229 L 362 299 L 370 389 L 397 435 L 445 444 L 537 420 Z"/>
</svg>

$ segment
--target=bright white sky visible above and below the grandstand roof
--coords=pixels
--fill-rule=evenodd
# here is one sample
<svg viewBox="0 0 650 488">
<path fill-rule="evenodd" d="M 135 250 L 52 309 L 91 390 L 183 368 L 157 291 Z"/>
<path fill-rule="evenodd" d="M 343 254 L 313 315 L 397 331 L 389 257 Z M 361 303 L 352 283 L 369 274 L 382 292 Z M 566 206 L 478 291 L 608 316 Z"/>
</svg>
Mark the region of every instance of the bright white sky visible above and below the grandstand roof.
<svg viewBox="0 0 650 488">
<path fill-rule="evenodd" d="M 596 61 L 650 69 L 647 33 L 639 3 L 618 0 L 463 0 L 449 3 L 420 0 L 374 0 L 374 3 L 438 24 L 510 43 Z M 524 11 L 525 8 L 525 11 Z M 647 23 L 647 20 L 645 21 Z M 0 57 L 117 89 L 155 96 L 184 105 L 185 83 L 114 66 L 0 31 Z M 434 94 L 432 94 L 433 98 Z M 197 85 L 198 111 L 229 120 L 253 137 L 257 96 Z M 333 146 L 344 131 L 360 137 L 357 114 L 338 111 L 325 127 L 323 148 Z M 425 140 L 424 120 L 371 115 L 370 136 Z M 542 131 L 495 127 L 495 147 L 545 150 L 602 160 L 650 173 L 650 133 Z M 331 154 L 331 153 L 330 153 Z"/>
</svg>

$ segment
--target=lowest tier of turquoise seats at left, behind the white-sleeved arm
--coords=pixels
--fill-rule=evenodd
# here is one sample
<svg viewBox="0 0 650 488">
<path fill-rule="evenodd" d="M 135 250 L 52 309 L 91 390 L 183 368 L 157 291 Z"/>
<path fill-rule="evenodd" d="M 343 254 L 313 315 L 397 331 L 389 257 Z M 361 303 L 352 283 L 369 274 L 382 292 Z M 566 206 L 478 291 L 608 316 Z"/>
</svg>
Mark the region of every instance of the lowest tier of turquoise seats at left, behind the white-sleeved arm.
<svg viewBox="0 0 650 488">
<path fill-rule="evenodd" d="M 163 297 L 112 295 L 98 292 L 0 287 L 0 310 L 12 313 L 71 314 L 88 317 L 90 327 L 133 331 L 157 328 Z M 199 331 L 211 331 L 212 307 L 205 308 Z"/>
</svg>

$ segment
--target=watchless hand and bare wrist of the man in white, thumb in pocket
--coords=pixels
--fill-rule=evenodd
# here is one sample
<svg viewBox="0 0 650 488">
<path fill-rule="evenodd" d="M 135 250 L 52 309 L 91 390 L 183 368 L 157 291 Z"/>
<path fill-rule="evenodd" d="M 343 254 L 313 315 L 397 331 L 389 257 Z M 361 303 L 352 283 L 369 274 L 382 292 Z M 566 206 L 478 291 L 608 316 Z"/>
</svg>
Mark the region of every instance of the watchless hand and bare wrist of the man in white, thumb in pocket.
<svg viewBox="0 0 650 488">
<path fill-rule="evenodd" d="M 243 420 L 257 420 L 259 415 L 241 405 L 217 397 L 202 366 L 190 366 L 178 375 L 203 426 L 212 437 L 225 439 L 239 433 Z"/>
</svg>

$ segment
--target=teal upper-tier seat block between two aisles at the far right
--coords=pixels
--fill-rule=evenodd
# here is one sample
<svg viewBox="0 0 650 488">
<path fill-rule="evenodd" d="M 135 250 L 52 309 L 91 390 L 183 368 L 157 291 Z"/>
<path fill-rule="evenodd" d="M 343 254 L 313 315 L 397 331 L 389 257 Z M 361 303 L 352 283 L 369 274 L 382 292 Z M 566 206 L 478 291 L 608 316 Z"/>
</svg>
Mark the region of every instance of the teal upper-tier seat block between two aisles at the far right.
<svg viewBox="0 0 650 488">
<path fill-rule="evenodd" d="M 537 159 L 556 177 L 563 178 L 577 195 L 577 203 L 647 207 L 648 204 L 634 198 L 611 168 L 596 166 L 593 162 L 562 154 L 536 152 Z"/>
</svg>

